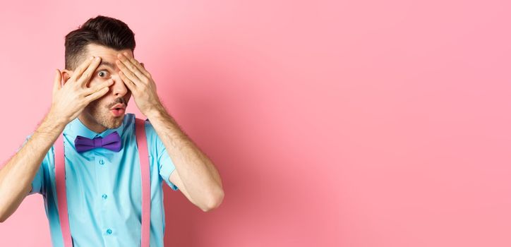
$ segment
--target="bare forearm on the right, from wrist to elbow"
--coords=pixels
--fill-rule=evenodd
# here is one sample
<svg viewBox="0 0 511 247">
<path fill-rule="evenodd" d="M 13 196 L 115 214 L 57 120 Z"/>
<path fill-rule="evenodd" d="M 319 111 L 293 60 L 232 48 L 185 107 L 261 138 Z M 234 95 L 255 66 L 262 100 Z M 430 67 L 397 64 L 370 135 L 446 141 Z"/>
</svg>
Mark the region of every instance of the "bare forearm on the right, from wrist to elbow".
<svg viewBox="0 0 511 247">
<path fill-rule="evenodd" d="M 223 193 L 220 174 L 211 160 L 163 107 L 149 114 L 148 119 L 172 158 L 186 191 L 194 201 L 209 206 Z"/>
</svg>

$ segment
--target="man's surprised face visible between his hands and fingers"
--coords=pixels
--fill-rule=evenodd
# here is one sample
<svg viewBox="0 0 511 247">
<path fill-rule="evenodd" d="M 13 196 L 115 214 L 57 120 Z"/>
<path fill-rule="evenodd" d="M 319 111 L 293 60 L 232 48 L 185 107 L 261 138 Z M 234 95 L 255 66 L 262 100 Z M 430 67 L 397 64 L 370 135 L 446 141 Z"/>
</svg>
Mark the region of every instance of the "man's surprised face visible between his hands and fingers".
<svg viewBox="0 0 511 247">
<path fill-rule="evenodd" d="M 126 107 L 131 98 L 131 91 L 119 77 L 120 69 L 116 66 L 115 61 L 118 53 L 128 52 L 128 55 L 131 57 L 133 57 L 133 53 L 131 49 L 116 51 L 115 49 L 98 44 L 88 44 L 87 50 L 88 54 L 84 58 L 90 56 L 101 57 L 100 66 L 97 66 L 92 74 L 87 87 L 93 87 L 110 78 L 114 80 L 114 84 L 109 87 L 109 91 L 99 99 L 90 102 L 78 117 L 92 131 L 100 133 L 106 128 L 118 128 L 122 124 L 124 114 L 115 116 L 111 109 L 119 103 L 124 104 Z"/>
</svg>

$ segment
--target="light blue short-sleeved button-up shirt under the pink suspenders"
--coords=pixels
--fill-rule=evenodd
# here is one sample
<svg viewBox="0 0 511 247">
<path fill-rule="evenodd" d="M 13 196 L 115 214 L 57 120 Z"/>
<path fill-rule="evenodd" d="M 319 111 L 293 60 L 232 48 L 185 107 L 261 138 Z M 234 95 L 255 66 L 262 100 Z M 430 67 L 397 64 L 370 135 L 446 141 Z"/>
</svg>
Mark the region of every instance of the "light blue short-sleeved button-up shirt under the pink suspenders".
<svg viewBox="0 0 511 247">
<path fill-rule="evenodd" d="M 135 115 L 128 113 L 119 128 L 110 128 L 102 133 L 91 131 L 78 118 L 64 128 L 69 227 L 75 247 L 140 246 L 141 178 L 134 127 Z M 121 136 L 119 152 L 102 147 L 76 152 L 74 140 L 77 135 L 92 139 L 113 131 Z M 145 119 L 145 132 L 151 180 L 150 246 L 163 246 L 162 180 L 177 191 L 178 188 L 169 181 L 175 167 L 148 119 Z M 43 195 L 53 246 L 64 246 L 56 205 L 53 146 L 32 181 L 30 194 L 33 193 Z"/>
</svg>

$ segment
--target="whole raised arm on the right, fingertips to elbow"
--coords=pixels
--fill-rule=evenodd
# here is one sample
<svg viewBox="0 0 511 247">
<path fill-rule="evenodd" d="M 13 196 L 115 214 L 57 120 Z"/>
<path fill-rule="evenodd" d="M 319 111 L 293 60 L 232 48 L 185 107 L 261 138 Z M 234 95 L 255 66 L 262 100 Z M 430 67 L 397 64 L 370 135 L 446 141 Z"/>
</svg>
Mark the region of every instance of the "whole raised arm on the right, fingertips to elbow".
<svg viewBox="0 0 511 247">
<path fill-rule="evenodd" d="M 148 117 L 155 128 L 169 157 L 172 157 L 176 170 L 169 180 L 203 211 L 218 207 L 224 198 L 224 191 L 220 175 L 211 160 L 200 152 L 164 109 L 156 92 L 156 83 L 144 65 L 128 52 L 117 54 L 117 58 L 116 64 L 121 69 L 119 76 L 133 94 L 140 112 Z"/>
</svg>

